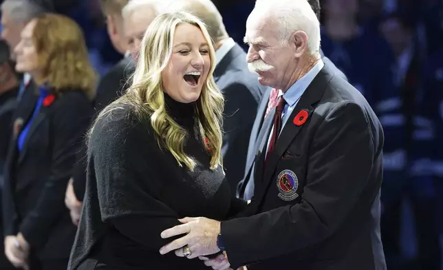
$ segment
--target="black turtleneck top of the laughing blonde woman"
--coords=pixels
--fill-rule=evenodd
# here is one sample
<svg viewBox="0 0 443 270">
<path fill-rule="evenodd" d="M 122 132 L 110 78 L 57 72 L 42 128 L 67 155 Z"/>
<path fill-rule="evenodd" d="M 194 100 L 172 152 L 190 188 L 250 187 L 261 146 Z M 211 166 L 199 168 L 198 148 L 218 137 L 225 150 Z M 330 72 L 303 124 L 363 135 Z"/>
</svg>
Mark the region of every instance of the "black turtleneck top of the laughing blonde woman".
<svg viewBox="0 0 443 270">
<path fill-rule="evenodd" d="M 195 104 L 164 97 L 188 132 L 184 152 L 196 160 L 194 171 L 159 147 L 149 118 L 113 105 L 89 141 L 87 191 L 68 269 L 208 269 L 198 258 L 160 255 L 173 240 L 160 233 L 180 225 L 179 218 L 224 220 L 245 206 L 231 198 L 222 167 L 210 169 L 210 153 L 195 132 Z"/>
</svg>

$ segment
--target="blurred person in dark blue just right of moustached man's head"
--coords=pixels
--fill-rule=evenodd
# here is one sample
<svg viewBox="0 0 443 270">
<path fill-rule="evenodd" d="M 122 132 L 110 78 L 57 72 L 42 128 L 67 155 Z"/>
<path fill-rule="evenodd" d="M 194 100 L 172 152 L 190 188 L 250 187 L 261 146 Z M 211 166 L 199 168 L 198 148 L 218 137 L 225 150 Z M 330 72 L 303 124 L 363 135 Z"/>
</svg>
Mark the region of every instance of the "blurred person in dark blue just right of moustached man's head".
<svg viewBox="0 0 443 270">
<path fill-rule="evenodd" d="M 358 23 L 358 0 L 324 0 L 321 48 L 374 107 L 393 92 L 393 54 L 381 35 Z"/>
</svg>

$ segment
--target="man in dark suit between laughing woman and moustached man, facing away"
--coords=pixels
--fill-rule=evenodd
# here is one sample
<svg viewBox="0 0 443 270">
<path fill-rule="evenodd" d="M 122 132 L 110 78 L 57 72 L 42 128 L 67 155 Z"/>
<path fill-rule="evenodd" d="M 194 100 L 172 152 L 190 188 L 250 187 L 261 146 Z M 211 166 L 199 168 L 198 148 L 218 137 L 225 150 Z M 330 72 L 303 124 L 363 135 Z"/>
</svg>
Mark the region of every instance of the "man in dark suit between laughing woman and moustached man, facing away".
<svg viewBox="0 0 443 270">
<path fill-rule="evenodd" d="M 266 90 L 257 74 L 248 70 L 246 52 L 226 32 L 222 15 L 210 0 L 171 1 L 164 12 L 182 10 L 199 17 L 215 43 L 214 79 L 224 104 L 223 165 L 230 188 L 235 191 L 244 176 L 248 141 L 261 96 Z"/>
</svg>

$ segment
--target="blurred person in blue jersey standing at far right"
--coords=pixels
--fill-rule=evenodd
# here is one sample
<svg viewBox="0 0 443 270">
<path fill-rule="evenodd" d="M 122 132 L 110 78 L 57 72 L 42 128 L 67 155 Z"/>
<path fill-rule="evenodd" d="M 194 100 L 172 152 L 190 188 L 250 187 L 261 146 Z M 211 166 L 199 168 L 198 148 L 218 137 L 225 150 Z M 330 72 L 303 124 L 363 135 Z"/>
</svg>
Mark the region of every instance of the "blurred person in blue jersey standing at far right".
<svg viewBox="0 0 443 270">
<path fill-rule="evenodd" d="M 385 121 L 385 179 L 382 236 L 388 267 L 440 269 L 440 244 L 437 231 L 437 200 L 429 156 L 433 143 L 432 122 L 420 115 L 419 104 L 425 95 L 422 84 L 424 48 L 417 34 L 415 14 L 397 10 L 387 14 L 380 31 L 396 56 L 393 82 L 398 94 L 378 103 Z M 400 256 L 402 209 L 407 203 L 415 217 L 414 232 L 418 257 Z"/>
</svg>

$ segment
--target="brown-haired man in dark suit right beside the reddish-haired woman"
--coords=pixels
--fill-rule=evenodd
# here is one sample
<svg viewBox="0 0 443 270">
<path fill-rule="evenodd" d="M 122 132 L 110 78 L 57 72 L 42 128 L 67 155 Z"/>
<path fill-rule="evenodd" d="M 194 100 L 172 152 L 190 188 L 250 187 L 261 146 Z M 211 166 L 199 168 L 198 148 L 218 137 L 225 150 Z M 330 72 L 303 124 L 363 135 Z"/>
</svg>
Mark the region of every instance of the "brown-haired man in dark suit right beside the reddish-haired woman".
<svg viewBox="0 0 443 270">
<path fill-rule="evenodd" d="M 122 9 L 127 5 L 129 0 L 100 0 L 102 12 L 105 14 L 107 21 L 107 30 L 112 45 L 125 57 L 119 61 L 109 72 L 100 79 L 98 83 L 94 107 L 96 113 L 100 112 L 104 107 L 114 101 L 121 92 L 126 90 L 126 81 L 133 72 L 133 64 L 131 57 L 127 52 L 127 39 L 123 27 Z M 92 116 L 91 116 L 92 117 Z M 65 205 L 71 212 L 72 222 L 76 225 L 80 219 L 80 211 L 82 200 L 85 194 L 86 184 L 86 152 L 85 145 L 78 152 L 78 164 L 74 169 L 73 176 L 69 180 L 69 184 L 65 194 Z"/>
</svg>

